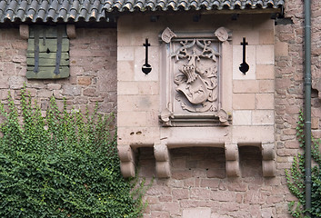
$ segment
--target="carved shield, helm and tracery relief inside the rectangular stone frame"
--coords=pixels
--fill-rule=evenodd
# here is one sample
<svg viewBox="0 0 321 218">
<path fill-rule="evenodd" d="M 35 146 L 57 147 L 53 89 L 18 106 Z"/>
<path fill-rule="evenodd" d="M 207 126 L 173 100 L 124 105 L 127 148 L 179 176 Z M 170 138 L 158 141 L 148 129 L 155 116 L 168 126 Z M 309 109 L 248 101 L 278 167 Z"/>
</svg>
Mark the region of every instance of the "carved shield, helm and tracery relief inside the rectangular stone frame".
<svg viewBox="0 0 321 218">
<path fill-rule="evenodd" d="M 211 41 L 182 41 L 173 57 L 186 59 L 175 74 L 176 99 L 189 112 L 217 111 L 217 58 Z"/>
</svg>

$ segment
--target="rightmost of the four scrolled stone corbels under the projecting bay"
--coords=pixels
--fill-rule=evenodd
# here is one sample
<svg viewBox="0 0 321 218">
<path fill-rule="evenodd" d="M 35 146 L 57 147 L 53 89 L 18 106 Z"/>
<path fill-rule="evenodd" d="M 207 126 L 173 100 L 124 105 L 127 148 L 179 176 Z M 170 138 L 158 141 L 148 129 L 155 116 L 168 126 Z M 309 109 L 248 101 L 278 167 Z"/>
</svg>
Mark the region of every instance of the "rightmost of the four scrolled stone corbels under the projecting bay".
<svg viewBox="0 0 321 218">
<path fill-rule="evenodd" d="M 276 176 L 276 152 L 274 144 L 262 144 L 262 170 L 263 176 Z"/>
</svg>

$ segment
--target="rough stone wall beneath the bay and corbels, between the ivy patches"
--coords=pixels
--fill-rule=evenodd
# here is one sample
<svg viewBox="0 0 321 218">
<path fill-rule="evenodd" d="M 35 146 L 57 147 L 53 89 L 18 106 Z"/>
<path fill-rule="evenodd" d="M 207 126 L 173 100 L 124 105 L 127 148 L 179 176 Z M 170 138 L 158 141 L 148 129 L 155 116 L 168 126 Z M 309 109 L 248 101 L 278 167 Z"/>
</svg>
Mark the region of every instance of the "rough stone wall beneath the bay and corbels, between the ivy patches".
<svg viewBox="0 0 321 218">
<path fill-rule="evenodd" d="M 146 193 L 144 217 L 290 217 L 286 186 L 281 177 L 263 177 L 259 149 L 242 147 L 239 154 L 242 177 L 226 178 L 224 149 L 171 150 L 172 177 L 155 179 Z M 154 165 L 153 149 L 141 149 L 139 172 L 147 182 L 155 174 Z M 183 215 L 192 209 L 193 216 Z M 204 216 L 198 216 L 204 210 Z"/>
</svg>

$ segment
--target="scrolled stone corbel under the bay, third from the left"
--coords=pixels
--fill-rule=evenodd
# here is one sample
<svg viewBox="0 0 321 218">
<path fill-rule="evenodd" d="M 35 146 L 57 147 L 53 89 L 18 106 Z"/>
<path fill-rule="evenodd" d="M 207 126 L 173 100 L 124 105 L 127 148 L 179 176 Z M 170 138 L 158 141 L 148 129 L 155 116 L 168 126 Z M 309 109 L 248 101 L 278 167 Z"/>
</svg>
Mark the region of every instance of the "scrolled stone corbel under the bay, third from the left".
<svg viewBox="0 0 321 218">
<path fill-rule="evenodd" d="M 239 157 L 237 144 L 225 144 L 226 149 L 226 175 L 239 176 Z"/>
</svg>

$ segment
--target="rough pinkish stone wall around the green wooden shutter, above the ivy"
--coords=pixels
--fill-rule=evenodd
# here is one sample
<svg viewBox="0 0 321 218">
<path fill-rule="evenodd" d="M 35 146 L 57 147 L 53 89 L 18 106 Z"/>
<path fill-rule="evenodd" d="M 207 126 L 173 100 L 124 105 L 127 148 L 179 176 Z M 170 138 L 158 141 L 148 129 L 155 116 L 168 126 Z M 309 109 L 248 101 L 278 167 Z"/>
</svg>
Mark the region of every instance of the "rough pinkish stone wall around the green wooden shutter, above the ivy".
<svg viewBox="0 0 321 218">
<path fill-rule="evenodd" d="M 70 77 L 58 80 L 27 80 L 27 40 L 19 36 L 18 28 L 0 29 L 0 99 L 7 93 L 19 97 L 27 90 L 45 111 L 48 99 L 55 96 L 62 108 L 65 98 L 68 109 L 85 112 L 99 104 L 99 112 L 116 111 L 116 31 L 112 28 L 76 28 L 76 38 L 70 40 Z M 18 102 L 16 102 L 18 104 Z"/>
</svg>

